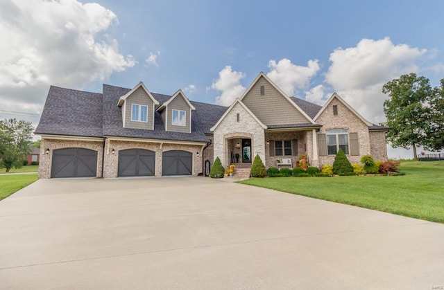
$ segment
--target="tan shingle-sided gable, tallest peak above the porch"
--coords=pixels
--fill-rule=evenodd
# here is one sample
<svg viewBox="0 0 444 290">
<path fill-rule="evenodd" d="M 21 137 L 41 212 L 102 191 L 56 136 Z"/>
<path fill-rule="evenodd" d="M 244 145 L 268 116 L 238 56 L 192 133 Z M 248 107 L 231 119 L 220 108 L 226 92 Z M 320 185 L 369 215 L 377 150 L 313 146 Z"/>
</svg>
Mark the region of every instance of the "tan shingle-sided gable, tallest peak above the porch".
<svg viewBox="0 0 444 290">
<path fill-rule="evenodd" d="M 261 91 L 264 93 L 263 95 L 261 95 Z M 262 73 L 241 100 L 265 125 L 313 123 L 287 96 L 282 95 Z"/>
</svg>

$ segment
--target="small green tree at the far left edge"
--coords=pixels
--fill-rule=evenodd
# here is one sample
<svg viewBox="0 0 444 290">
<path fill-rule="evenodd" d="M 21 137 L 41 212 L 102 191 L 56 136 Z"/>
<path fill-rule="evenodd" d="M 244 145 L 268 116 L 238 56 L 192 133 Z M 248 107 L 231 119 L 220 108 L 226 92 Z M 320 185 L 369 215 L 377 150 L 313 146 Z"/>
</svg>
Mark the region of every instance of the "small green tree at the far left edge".
<svg viewBox="0 0 444 290">
<path fill-rule="evenodd" d="M 31 153 L 33 125 L 24 120 L 0 120 L 0 168 L 6 172 L 22 167 L 26 154 Z"/>
</svg>

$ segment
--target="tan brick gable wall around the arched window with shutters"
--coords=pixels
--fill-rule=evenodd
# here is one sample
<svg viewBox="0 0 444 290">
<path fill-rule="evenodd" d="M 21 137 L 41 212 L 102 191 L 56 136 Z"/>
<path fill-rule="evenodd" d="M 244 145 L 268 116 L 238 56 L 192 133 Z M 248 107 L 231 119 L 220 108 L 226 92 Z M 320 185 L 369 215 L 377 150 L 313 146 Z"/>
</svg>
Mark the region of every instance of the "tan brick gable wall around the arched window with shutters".
<svg viewBox="0 0 444 290">
<path fill-rule="evenodd" d="M 338 114 L 336 116 L 333 114 L 333 105 L 338 106 Z M 321 114 L 321 116 L 319 116 L 315 121 L 316 123 L 323 125 L 318 133 L 325 134 L 325 132 L 330 129 L 347 129 L 349 133 L 357 132 L 359 139 L 359 156 L 351 156 L 350 154 L 347 155 L 350 163 L 359 163 L 361 156 L 371 154 L 368 126 L 352 111 L 350 111 L 350 109 L 345 107 L 345 105 L 343 105 L 343 103 L 338 99 L 333 99 L 328 107 L 325 108 L 323 114 Z M 334 162 L 334 157 L 335 155 L 319 156 L 318 166 L 323 164 L 332 165 Z"/>
</svg>

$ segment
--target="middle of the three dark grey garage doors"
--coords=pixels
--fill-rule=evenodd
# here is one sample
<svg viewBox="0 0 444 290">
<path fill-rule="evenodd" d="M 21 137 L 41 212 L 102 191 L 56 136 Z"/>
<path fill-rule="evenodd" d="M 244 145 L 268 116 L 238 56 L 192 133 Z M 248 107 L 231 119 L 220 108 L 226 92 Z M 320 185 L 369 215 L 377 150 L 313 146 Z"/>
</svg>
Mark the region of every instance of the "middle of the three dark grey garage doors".
<svg viewBox="0 0 444 290">
<path fill-rule="evenodd" d="M 145 149 L 119 151 L 119 176 L 153 176 L 155 152 Z"/>
</svg>

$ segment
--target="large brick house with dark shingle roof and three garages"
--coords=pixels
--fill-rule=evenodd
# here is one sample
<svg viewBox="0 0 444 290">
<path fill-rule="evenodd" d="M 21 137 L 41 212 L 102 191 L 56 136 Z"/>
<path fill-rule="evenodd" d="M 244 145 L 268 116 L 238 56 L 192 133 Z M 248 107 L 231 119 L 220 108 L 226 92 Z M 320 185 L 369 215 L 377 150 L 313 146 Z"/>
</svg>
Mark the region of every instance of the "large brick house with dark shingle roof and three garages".
<svg viewBox="0 0 444 290">
<path fill-rule="evenodd" d="M 179 90 L 151 93 L 103 85 L 102 93 L 51 87 L 35 134 L 42 136 L 39 176 L 198 175 L 216 156 L 226 167 L 332 164 L 339 148 L 350 162 L 386 160 L 386 127 L 365 120 L 334 93 L 323 107 L 289 97 L 264 73 L 230 107 L 193 102 Z M 236 158 L 239 156 L 239 158 Z"/>
</svg>

